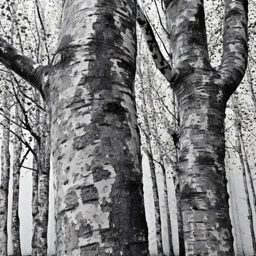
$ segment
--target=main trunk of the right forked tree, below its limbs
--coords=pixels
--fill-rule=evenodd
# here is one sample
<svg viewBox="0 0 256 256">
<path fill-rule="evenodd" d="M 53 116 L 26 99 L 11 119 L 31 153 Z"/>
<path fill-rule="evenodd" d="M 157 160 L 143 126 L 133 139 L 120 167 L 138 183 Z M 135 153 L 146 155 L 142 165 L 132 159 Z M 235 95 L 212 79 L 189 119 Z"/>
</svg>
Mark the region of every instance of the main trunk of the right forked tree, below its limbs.
<svg viewBox="0 0 256 256">
<path fill-rule="evenodd" d="M 179 180 L 186 255 L 218 252 L 218 256 L 231 256 L 223 88 L 211 75 L 198 74 L 186 77 L 176 91 L 181 116 Z M 191 90 L 184 93 L 188 87 Z"/>
</svg>

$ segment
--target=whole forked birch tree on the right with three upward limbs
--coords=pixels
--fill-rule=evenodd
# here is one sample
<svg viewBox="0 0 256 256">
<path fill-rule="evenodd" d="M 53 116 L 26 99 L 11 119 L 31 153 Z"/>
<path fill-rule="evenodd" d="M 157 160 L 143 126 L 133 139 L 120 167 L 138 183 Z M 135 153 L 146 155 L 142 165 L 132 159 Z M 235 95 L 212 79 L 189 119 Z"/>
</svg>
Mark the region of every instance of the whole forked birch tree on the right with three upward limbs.
<svg viewBox="0 0 256 256">
<path fill-rule="evenodd" d="M 203 1 L 163 1 L 173 56 L 170 65 L 138 6 L 155 64 L 171 83 L 180 107 L 180 200 L 185 254 L 234 255 L 225 175 L 226 103 L 247 65 L 247 1 L 225 0 L 223 54 L 209 61 Z M 211 180 L 211 182 L 209 182 Z"/>
</svg>

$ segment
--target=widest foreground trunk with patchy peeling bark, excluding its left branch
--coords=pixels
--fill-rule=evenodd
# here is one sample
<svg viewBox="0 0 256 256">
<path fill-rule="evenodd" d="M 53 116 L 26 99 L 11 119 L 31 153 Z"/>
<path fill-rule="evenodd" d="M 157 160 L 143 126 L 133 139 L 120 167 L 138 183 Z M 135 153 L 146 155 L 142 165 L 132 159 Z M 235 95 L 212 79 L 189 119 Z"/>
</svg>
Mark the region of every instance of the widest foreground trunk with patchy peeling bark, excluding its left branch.
<svg viewBox="0 0 256 256">
<path fill-rule="evenodd" d="M 66 0 L 45 97 L 56 255 L 148 255 L 134 76 L 135 1 Z"/>
</svg>

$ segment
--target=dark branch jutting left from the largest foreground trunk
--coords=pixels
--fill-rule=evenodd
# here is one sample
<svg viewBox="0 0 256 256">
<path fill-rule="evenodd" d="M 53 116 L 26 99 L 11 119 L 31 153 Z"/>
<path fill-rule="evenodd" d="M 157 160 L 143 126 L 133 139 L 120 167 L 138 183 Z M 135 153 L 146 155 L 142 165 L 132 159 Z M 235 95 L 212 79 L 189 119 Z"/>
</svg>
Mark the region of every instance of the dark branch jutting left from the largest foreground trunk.
<svg viewBox="0 0 256 256">
<path fill-rule="evenodd" d="M 42 92 L 47 66 L 42 66 L 23 55 L 0 37 L 0 62 Z"/>
</svg>

